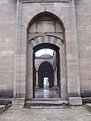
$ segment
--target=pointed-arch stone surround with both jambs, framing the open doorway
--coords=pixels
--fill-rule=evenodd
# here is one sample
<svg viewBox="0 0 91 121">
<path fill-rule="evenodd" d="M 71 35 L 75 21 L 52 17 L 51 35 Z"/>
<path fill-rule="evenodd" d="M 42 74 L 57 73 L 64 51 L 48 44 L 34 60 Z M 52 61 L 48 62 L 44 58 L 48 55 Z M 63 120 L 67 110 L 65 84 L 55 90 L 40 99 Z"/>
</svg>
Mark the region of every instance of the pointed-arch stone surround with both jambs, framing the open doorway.
<svg viewBox="0 0 91 121">
<path fill-rule="evenodd" d="M 64 27 L 63 24 L 59 21 L 56 16 L 45 12 L 33 19 L 31 24 L 28 27 L 28 45 L 27 45 L 27 98 L 34 97 L 34 87 L 35 83 L 33 82 L 33 48 L 38 45 L 44 44 L 45 46 L 50 44 L 59 48 L 57 53 L 59 56 L 59 69 L 56 70 L 58 85 L 60 85 L 61 96 L 64 95 L 66 98 L 67 88 L 66 88 L 66 63 L 65 63 L 65 40 L 64 40 Z M 41 48 L 42 46 L 40 46 Z M 43 46 L 44 47 L 44 46 Z M 39 47 L 38 47 L 39 49 Z M 31 60 L 32 59 L 32 60 Z M 31 62 L 30 62 L 31 60 Z M 57 60 L 57 61 L 59 61 Z M 33 63 L 32 63 L 33 62 Z M 32 69 L 32 68 L 33 69 Z M 32 70 L 31 70 L 32 69 Z M 61 75 L 61 76 L 60 76 Z M 59 78 L 60 77 L 60 78 Z M 30 81 L 31 80 L 31 81 Z M 31 86 L 29 86 L 31 85 Z"/>
</svg>

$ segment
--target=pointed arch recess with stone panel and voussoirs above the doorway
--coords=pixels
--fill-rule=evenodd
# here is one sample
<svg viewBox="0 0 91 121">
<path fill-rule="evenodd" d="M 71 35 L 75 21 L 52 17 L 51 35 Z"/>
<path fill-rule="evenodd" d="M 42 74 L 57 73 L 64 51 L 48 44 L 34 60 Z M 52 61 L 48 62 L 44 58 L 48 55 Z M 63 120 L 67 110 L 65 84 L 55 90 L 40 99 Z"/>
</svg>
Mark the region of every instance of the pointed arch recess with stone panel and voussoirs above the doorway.
<svg viewBox="0 0 91 121">
<path fill-rule="evenodd" d="M 64 43 L 63 22 L 50 12 L 42 12 L 32 18 L 27 27 L 28 42 L 33 47 L 42 43 L 52 43 L 60 47 Z"/>
</svg>

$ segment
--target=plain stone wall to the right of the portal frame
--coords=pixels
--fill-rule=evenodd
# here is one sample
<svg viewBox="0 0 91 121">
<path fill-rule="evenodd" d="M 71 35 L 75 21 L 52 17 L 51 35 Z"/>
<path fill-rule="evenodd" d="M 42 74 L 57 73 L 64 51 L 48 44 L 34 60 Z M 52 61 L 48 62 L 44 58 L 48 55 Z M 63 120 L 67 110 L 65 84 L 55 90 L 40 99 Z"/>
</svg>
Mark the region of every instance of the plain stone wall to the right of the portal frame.
<svg viewBox="0 0 91 121">
<path fill-rule="evenodd" d="M 76 1 L 82 96 L 91 96 L 91 0 Z"/>
</svg>

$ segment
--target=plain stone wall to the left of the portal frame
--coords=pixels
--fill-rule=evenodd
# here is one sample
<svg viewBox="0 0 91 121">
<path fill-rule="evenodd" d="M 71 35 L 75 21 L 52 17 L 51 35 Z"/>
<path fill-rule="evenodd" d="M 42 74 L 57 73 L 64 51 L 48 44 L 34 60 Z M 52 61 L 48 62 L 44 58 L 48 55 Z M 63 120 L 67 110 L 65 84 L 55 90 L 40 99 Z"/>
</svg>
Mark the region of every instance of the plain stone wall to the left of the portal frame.
<svg viewBox="0 0 91 121">
<path fill-rule="evenodd" d="M 13 95 L 16 6 L 0 0 L 0 97 Z"/>
</svg>

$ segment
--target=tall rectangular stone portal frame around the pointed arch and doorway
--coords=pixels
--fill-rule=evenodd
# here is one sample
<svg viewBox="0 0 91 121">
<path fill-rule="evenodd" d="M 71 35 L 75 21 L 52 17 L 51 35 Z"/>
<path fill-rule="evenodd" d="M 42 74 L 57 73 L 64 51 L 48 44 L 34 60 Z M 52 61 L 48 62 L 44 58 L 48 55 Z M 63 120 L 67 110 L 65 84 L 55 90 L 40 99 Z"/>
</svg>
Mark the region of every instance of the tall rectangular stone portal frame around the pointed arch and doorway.
<svg viewBox="0 0 91 121">
<path fill-rule="evenodd" d="M 22 1 L 19 1 L 17 5 L 17 39 L 15 53 L 14 97 L 29 99 L 33 98 L 33 48 L 38 44 L 52 43 L 60 48 L 59 53 L 61 58 L 61 98 L 68 99 L 70 97 L 76 97 L 77 99 L 77 97 L 80 97 L 80 76 L 74 4 L 67 3 L 69 7 L 67 7 L 66 11 L 59 12 L 63 7 L 63 4 L 61 3 L 56 4 L 59 9 L 56 9 L 56 6 L 54 5 L 50 7 L 47 4 L 43 6 L 42 3 L 37 5 L 25 3 L 25 1 L 24 3 Z M 27 6 L 26 9 L 24 7 L 25 5 Z M 70 7 L 70 5 L 72 7 Z M 38 6 L 39 9 L 37 9 L 36 6 Z M 31 7 L 33 7 L 33 11 Z M 32 33 L 29 33 L 29 29 L 32 28 L 31 25 L 33 25 L 33 22 L 39 20 L 38 18 L 41 18 L 42 15 L 45 16 L 46 13 L 52 21 L 56 20 L 57 23 L 62 25 L 62 29 L 64 31 L 59 34 L 55 33 L 56 31 L 54 33 L 39 33 L 38 31 L 37 33 L 34 33 L 35 29 L 31 29 L 33 31 L 31 31 Z M 59 28 L 59 26 L 57 26 L 57 28 Z M 40 39 L 41 36 L 42 40 Z M 56 38 L 56 40 L 52 39 L 52 37 Z M 64 41 L 65 38 L 66 41 Z M 64 51 L 65 48 L 66 54 Z"/>
</svg>

